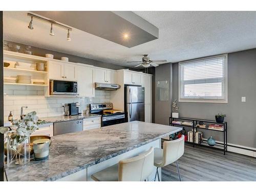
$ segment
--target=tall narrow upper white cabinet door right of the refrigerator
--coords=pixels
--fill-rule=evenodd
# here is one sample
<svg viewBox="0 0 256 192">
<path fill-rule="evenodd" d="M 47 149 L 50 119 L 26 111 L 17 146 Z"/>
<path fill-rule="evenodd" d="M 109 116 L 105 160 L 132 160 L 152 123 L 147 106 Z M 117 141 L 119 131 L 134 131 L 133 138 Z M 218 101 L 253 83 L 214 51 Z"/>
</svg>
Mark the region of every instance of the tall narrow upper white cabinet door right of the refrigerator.
<svg viewBox="0 0 256 192">
<path fill-rule="evenodd" d="M 144 87 L 145 104 L 152 104 L 152 76 L 142 74 L 141 85 Z"/>
</svg>

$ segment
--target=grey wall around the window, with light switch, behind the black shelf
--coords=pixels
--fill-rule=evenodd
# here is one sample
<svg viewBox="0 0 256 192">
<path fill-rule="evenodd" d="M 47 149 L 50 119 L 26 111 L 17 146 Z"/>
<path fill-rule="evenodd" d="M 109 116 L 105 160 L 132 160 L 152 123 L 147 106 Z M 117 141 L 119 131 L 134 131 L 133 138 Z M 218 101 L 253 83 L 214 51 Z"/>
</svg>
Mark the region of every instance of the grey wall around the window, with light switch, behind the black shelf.
<svg viewBox="0 0 256 192">
<path fill-rule="evenodd" d="M 173 63 L 173 99 L 178 100 L 178 63 Z M 156 78 L 157 74 L 156 73 Z M 246 102 L 241 102 L 241 97 Z M 178 102 L 180 117 L 215 119 L 223 113 L 228 122 L 228 142 L 256 148 L 256 49 L 228 54 L 228 103 Z M 169 107 L 165 107 L 165 111 Z M 166 121 L 166 120 L 165 120 Z M 164 122 L 165 122 L 164 121 Z M 223 141 L 217 132 L 206 131 Z"/>
</svg>

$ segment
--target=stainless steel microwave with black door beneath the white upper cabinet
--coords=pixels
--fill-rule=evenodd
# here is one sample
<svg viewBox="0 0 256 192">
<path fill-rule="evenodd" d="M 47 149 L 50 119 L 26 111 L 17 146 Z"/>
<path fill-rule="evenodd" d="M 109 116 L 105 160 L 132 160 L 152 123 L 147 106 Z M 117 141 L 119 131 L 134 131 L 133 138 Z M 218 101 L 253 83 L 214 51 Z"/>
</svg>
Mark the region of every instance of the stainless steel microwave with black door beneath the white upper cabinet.
<svg viewBox="0 0 256 192">
<path fill-rule="evenodd" d="M 77 82 L 50 80 L 50 95 L 77 95 Z"/>
</svg>

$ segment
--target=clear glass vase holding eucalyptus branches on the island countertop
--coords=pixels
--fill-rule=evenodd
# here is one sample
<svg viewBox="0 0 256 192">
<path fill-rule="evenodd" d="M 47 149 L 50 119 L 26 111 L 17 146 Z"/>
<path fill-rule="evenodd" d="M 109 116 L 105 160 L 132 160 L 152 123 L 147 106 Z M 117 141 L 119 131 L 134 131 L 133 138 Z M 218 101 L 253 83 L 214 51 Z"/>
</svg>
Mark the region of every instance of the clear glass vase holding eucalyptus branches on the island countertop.
<svg viewBox="0 0 256 192">
<path fill-rule="evenodd" d="M 30 161 L 29 137 L 7 138 L 7 166 L 14 167 Z"/>
</svg>

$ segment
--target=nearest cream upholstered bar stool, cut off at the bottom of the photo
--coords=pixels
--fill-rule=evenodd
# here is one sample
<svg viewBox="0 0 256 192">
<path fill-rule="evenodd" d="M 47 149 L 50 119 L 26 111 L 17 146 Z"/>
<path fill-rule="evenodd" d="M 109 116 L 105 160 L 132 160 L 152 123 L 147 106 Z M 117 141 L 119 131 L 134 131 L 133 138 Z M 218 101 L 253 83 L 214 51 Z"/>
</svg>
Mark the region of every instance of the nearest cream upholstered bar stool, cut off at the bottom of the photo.
<svg viewBox="0 0 256 192">
<path fill-rule="evenodd" d="M 154 148 L 91 175 L 94 181 L 146 181 L 154 170 Z"/>
</svg>

